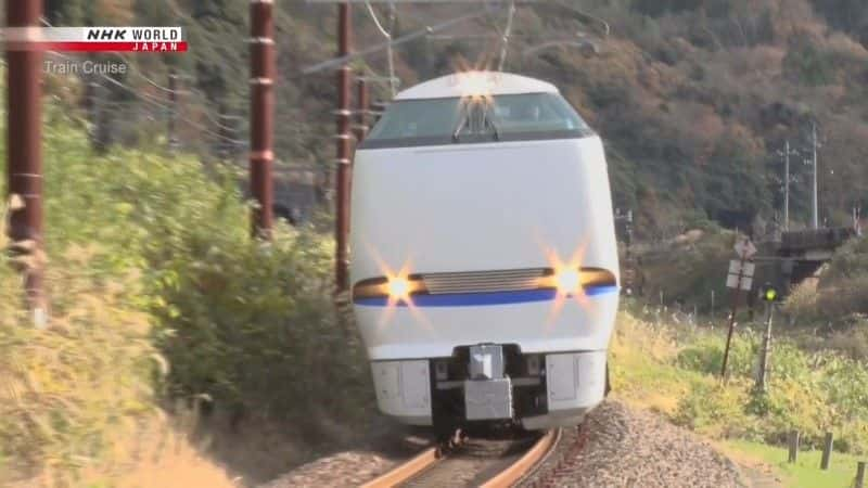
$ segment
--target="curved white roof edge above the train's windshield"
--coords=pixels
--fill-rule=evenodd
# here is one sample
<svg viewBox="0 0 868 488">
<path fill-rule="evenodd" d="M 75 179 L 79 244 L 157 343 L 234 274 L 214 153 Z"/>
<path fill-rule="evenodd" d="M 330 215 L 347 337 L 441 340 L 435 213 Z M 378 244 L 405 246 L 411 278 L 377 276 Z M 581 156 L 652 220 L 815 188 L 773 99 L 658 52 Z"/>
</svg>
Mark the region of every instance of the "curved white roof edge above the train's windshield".
<svg viewBox="0 0 868 488">
<path fill-rule="evenodd" d="M 549 82 L 500 72 L 465 72 L 446 75 L 408 88 L 395 100 L 449 99 L 472 95 L 558 93 Z"/>
</svg>

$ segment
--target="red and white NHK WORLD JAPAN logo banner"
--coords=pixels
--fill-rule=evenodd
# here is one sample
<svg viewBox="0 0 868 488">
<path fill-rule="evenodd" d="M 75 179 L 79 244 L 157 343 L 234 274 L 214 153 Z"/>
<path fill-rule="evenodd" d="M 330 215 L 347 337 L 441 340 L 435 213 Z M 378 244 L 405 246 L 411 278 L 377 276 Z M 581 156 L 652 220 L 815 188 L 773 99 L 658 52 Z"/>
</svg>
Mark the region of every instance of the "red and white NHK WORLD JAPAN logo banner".
<svg viewBox="0 0 868 488">
<path fill-rule="evenodd" d="M 187 52 L 181 27 L 15 27 L 3 30 L 9 51 Z"/>
</svg>

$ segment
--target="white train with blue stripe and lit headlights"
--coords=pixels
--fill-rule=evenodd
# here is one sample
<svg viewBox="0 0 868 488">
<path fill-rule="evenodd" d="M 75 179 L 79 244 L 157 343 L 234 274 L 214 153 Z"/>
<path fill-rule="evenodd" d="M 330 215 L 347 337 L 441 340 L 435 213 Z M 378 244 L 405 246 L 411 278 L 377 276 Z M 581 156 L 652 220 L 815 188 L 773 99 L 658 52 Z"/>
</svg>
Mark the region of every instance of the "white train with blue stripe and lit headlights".
<svg viewBox="0 0 868 488">
<path fill-rule="evenodd" d="M 618 262 L 600 138 L 547 82 L 399 93 L 356 153 L 354 311 L 379 408 L 574 425 L 602 401 Z"/>
</svg>

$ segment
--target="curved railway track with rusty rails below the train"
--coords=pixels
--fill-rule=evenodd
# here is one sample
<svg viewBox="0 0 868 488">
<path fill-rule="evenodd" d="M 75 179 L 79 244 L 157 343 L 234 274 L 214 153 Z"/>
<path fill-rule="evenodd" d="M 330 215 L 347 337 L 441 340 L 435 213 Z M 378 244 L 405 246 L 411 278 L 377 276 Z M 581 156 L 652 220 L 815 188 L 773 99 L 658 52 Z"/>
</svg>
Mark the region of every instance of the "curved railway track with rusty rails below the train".
<svg viewBox="0 0 868 488">
<path fill-rule="evenodd" d="M 363 488 L 515 486 L 557 446 L 560 429 L 514 439 L 464 439 L 447 449 L 431 448 Z"/>
</svg>

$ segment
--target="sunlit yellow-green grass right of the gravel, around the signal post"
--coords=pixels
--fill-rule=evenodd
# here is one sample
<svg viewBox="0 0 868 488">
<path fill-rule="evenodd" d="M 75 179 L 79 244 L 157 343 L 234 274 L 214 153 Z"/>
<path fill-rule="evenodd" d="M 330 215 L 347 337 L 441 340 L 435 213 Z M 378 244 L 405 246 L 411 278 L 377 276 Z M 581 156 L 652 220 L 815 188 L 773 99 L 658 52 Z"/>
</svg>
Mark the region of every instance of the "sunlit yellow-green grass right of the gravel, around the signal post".
<svg viewBox="0 0 868 488">
<path fill-rule="evenodd" d="M 654 323 L 630 305 L 620 317 L 611 349 L 617 398 L 736 447 L 768 445 L 762 448 L 764 454 L 774 446 L 782 447 L 792 429 L 800 431 L 806 450 L 818 449 L 824 433 L 832 432 L 837 452 L 868 453 L 868 368 L 864 361 L 777 338 L 770 386 L 761 394 L 754 389 L 762 341 L 757 331 L 737 330 L 728 380 L 723 383 L 723 328 Z M 786 452 L 780 452 L 786 461 Z M 855 470 L 855 463 L 850 470 Z"/>
</svg>

